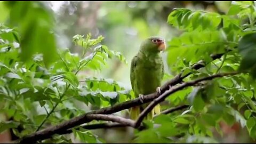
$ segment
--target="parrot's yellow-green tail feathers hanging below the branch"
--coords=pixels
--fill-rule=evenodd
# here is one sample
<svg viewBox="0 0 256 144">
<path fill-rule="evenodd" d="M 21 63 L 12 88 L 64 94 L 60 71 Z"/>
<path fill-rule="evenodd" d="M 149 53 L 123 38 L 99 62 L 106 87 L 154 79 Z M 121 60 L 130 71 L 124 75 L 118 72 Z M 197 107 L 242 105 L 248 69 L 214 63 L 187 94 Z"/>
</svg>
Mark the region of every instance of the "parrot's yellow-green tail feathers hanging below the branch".
<svg viewBox="0 0 256 144">
<path fill-rule="evenodd" d="M 133 121 L 136 121 L 137 118 L 139 117 L 140 113 L 142 112 L 143 109 L 140 108 L 140 106 L 136 106 L 136 107 L 132 107 L 131 108 L 131 119 Z M 150 113 L 147 114 L 147 116 L 145 117 L 145 119 L 153 119 L 154 115 L 159 115 L 161 114 L 161 106 L 160 104 L 157 104 L 153 110 L 151 110 Z"/>
</svg>

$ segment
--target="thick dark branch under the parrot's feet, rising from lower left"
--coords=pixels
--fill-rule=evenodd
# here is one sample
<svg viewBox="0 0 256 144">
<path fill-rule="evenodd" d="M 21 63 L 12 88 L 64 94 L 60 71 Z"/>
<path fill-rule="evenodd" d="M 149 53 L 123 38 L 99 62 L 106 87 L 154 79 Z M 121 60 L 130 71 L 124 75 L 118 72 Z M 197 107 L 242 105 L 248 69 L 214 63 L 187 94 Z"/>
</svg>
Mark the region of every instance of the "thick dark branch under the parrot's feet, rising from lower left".
<svg viewBox="0 0 256 144">
<path fill-rule="evenodd" d="M 222 55 L 223 54 L 214 54 L 214 55 L 211 55 L 211 58 L 213 60 L 215 60 L 215 59 L 221 58 Z M 192 68 L 200 69 L 204 66 L 205 66 L 204 61 L 199 61 L 199 62 L 195 63 L 195 65 Z M 169 82 L 166 82 L 163 86 L 161 86 L 161 94 L 163 94 L 165 91 L 169 90 L 169 85 L 173 86 L 175 84 L 181 83 L 183 78 L 189 76 L 190 74 L 191 73 L 188 73 L 187 75 L 182 76 L 182 73 L 180 73 L 177 76 L 175 76 L 173 79 L 171 79 Z M 143 103 L 150 102 L 157 97 L 158 97 L 157 92 L 151 93 L 148 95 L 143 95 Z M 22 142 L 35 142 L 37 140 L 47 139 L 47 138 L 50 138 L 51 135 L 53 135 L 53 134 L 60 134 L 63 131 L 71 129 L 74 126 L 91 122 L 92 120 L 87 117 L 87 115 L 89 115 L 89 114 L 112 114 L 112 113 L 116 113 L 116 112 L 124 110 L 124 109 L 129 109 L 134 106 L 142 105 L 143 103 L 140 101 L 139 98 L 136 98 L 136 99 L 133 99 L 130 101 L 119 103 L 115 106 L 101 108 L 99 110 L 91 111 L 90 113 L 86 113 L 81 116 L 74 117 L 74 118 L 70 119 L 69 121 L 63 122 L 59 125 L 51 126 L 44 130 L 37 131 L 35 133 L 27 135 L 26 137 L 21 138 L 20 142 L 21 143 Z M 138 124 L 137 124 L 137 127 L 138 127 Z"/>
</svg>

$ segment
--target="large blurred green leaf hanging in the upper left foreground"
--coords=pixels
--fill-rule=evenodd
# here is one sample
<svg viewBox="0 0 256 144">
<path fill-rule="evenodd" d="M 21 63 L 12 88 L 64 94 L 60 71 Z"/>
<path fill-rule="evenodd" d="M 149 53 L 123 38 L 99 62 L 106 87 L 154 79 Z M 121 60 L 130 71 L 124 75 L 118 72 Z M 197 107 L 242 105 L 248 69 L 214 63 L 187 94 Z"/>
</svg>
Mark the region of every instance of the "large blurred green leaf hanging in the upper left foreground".
<svg viewBox="0 0 256 144">
<path fill-rule="evenodd" d="M 33 54 L 43 53 L 44 63 L 49 66 L 57 56 L 52 13 L 41 2 L 15 2 L 10 11 L 11 24 L 21 33 L 21 59 L 28 61 Z M 43 42 L 42 42 L 42 38 Z"/>
</svg>

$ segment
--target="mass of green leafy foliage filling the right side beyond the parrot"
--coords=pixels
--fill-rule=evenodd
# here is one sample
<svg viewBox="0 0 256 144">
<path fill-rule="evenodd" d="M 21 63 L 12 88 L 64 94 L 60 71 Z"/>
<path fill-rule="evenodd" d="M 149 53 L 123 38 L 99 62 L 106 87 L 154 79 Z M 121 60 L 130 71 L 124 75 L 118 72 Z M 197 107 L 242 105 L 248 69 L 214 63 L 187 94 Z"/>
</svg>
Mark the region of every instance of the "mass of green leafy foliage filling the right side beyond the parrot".
<svg viewBox="0 0 256 144">
<path fill-rule="evenodd" d="M 167 22 L 183 31 L 168 42 L 167 63 L 171 73 L 191 73 L 185 81 L 235 70 L 245 73 L 214 79 L 170 95 L 171 106 L 187 103 L 191 107 L 183 113 L 157 116 L 153 124 L 159 127 L 151 128 L 156 135 L 150 142 L 159 142 L 161 138 L 170 142 L 215 143 L 217 135 L 212 130 L 223 135 L 220 127 L 223 122 L 229 126 L 238 123 L 241 128 L 247 127 L 250 137 L 256 139 L 253 134 L 255 13 L 253 2 L 234 2 L 223 15 L 189 9 L 175 9 L 170 13 Z M 220 59 L 210 57 L 222 53 Z M 199 60 L 204 61 L 205 67 L 191 69 Z M 153 131 L 151 129 L 147 134 Z M 138 141 L 147 142 L 140 136 L 147 134 L 138 133 Z"/>
</svg>

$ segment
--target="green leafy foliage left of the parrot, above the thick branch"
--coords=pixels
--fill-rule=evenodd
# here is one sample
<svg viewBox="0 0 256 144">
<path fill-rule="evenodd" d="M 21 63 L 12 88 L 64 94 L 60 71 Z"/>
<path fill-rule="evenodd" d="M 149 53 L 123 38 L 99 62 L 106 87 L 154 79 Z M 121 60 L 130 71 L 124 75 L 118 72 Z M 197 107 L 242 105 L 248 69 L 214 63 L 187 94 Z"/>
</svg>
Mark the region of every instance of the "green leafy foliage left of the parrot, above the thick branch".
<svg viewBox="0 0 256 144">
<path fill-rule="evenodd" d="M 23 137 L 49 124 L 55 125 L 85 113 L 87 110 L 79 108 L 77 102 L 100 108 L 131 98 L 130 91 L 124 90 L 113 79 L 86 75 L 84 82 L 78 80 L 79 71 L 101 70 L 108 59 L 117 58 L 127 63 L 121 53 L 100 44 L 102 36 L 95 39 L 90 34 L 86 39 L 81 35 L 74 36 L 73 42 L 80 45 L 84 53 L 79 55 L 69 49 L 58 49 L 58 57 L 50 63 L 56 47 L 50 32 L 53 28 L 50 14 L 47 15 L 45 8 L 36 2 L 10 4 L 10 20 L 21 26 L 17 30 L 0 25 L 0 103 L 1 113 L 7 114 L 9 119 L 1 122 L 1 132 L 12 129 L 15 135 Z M 28 12 L 22 9 L 28 9 Z M 28 14 L 25 19 L 19 19 L 17 15 L 22 12 Z M 30 25 L 34 29 L 29 28 Z M 76 133 L 86 139 L 92 137 L 91 133 Z M 92 137 L 93 141 L 87 142 L 97 139 Z"/>
</svg>

